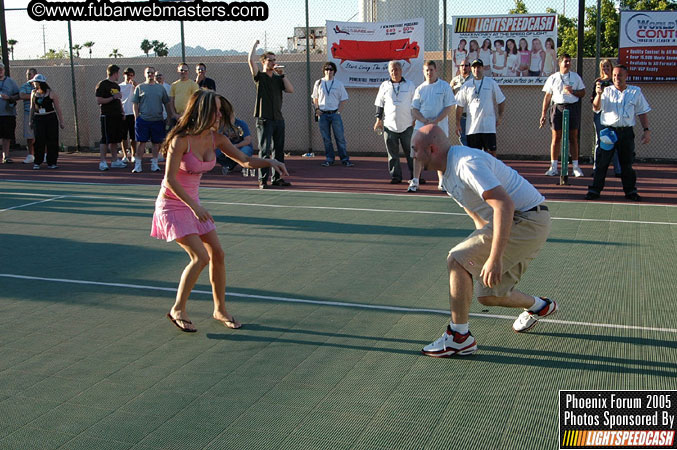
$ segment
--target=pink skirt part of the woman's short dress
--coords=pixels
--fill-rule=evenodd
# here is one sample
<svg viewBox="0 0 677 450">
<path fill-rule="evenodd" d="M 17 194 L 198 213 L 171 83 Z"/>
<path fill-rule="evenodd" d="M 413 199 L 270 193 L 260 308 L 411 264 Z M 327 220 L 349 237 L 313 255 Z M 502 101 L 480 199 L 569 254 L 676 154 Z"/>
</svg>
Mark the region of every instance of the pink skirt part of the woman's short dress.
<svg viewBox="0 0 677 450">
<path fill-rule="evenodd" d="M 150 231 L 152 237 L 171 242 L 189 234 L 202 236 L 215 229 L 214 222 L 200 222 L 181 200 L 166 198 L 162 192 L 158 195 Z"/>
</svg>

